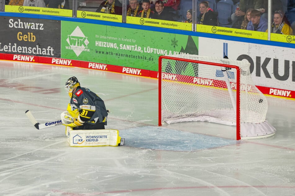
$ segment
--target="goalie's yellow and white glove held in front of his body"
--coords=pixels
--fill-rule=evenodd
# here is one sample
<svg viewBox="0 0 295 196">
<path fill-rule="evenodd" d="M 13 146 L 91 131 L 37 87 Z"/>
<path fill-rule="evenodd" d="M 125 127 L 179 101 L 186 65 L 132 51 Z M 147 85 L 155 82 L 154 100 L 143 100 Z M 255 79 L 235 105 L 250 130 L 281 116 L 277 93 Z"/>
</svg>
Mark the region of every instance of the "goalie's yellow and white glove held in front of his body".
<svg viewBox="0 0 295 196">
<path fill-rule="evenodd" d="M 78 109 L 75 109 L 73 111 L 67 110 L 60 114 L 60 118 L 63 125 L 69 127 L 82 126 L 84 123 L 84 121 L 82 121 L 80 118 L 80 113 Z"/>
</svg>

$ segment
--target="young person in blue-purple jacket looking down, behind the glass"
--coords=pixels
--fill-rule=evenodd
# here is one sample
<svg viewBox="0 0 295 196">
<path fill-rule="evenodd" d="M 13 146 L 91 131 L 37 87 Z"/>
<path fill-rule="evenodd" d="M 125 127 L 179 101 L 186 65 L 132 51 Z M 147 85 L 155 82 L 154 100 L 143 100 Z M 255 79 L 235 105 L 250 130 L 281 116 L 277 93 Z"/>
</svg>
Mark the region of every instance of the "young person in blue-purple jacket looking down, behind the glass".
<svg viewBox="0 0 295 196">
<path fill-rule="evenodd" d="M 261 17 L 260 11 L 252 10 L 250 13 L 251 21 L 247 25 L 247 30 L 265 32 L 267 20 Z"/>
</svg>

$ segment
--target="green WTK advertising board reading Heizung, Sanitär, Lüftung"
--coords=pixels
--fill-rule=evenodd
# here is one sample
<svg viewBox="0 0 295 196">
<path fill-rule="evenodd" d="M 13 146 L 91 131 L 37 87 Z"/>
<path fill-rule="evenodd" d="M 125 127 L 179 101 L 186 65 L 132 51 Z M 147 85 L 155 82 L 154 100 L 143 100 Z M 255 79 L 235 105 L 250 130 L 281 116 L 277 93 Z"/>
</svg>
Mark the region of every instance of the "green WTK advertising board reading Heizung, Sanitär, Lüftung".
<svg viewBox="0 0 295 196">
<path fill-rule="evenodd" d="M 161 55 L 198 54 L 198 37 L 62 21 L 61 58 L 158 70 Z"/>
</svg>

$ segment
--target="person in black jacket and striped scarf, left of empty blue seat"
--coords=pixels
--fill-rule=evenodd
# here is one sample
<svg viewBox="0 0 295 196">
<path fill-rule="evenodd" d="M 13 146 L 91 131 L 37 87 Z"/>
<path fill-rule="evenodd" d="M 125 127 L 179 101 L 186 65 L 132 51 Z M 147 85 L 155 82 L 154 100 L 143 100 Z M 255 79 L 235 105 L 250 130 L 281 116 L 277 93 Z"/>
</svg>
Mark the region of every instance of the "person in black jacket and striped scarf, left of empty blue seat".
<svg viewBox="0 0 295 196">
<path fill-rule="evenodd" d="M 200 15 L 198 17 L 198 24 L 217 26 L 217 12 L 214 12 L 207 1 L 202 1 L 199 4 Z"/>
</svg>

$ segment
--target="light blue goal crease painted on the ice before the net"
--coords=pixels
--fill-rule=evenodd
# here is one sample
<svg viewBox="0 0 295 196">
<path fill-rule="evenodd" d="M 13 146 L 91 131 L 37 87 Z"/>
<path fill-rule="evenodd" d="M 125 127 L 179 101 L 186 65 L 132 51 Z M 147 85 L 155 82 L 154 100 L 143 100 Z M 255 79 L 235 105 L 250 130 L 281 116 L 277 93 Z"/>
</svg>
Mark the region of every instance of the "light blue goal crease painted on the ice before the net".
<svg viewBox="0 0 295 196">
<path fill-rule="evenodd" d="M 142 126 L 120 132 L 129 143 L 125 146 L 152 150 L 195 151 L 235 144 L 236 140 L 188 133 L 165 127 Z"/>
</svg>

